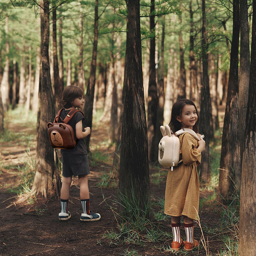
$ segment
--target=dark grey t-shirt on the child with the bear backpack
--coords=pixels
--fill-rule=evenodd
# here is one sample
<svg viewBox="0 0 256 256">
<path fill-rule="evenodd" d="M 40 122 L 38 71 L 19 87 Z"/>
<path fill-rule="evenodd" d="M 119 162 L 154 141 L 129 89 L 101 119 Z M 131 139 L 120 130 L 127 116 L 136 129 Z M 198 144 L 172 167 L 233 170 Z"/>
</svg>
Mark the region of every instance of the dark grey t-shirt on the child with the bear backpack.
<svg viewBox="0 0 256 256">
<path fill-rule="evenodd" d="M 61 111 L 61 114 L 60 114 L 61 118 L 64 120 L 69 112 L 70 112 L 70 110 L 63 110 L 63 111 Z M 74 131 L 75 139 L 76 140 L 77 140 L 77 137 L 76 137 L 76 124 L 79 121 L 81 121 L 81 120 L 82 121 L 84 120 L 83 114 L 81 112 L 76 112 L 74 114 L 74 116 L 70 119 L 70 121 L 68 122 L 68 124 L 71 125 L 71 127 L 72 127 L 72 129 Z M 60 122 L 60 119 L 59 119 L 58 122 Z M 86 144 L 85 144 L 84 140 L 77 140 L 75 148 L 72 148 L 72 149 L 61 149 L 61 154 L 80 154 L 80 155 L 87 154 Z"/>
</svg>

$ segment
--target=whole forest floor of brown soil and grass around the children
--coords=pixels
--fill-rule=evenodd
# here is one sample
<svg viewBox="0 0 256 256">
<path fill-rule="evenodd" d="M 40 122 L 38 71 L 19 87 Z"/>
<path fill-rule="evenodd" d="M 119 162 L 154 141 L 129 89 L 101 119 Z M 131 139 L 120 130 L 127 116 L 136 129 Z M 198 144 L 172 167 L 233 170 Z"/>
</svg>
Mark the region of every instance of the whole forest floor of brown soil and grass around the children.
<svg viewBox="0 0 256 256">
<path fill-rule="evenodd" d="M 17 195 L 20 193 L 21 186 L 23 190 L 28 189 L 25 181 L 32 179 L 33 172 L 27 170 L 35 160 L 35 125 L 20 124 L 12 120 L 5 125 L 8 130 L 5 136 L 9 136 L 10 139 L 5 138 L 1 142 L 0 149 L 0 256 L 164 256 L 173 254 L 170 250 L 172 242 L 170 218 L 166 216 L 152 221 L 154 225 L 150 226 L 152 234 L 160 235 L 156 234 L 157 239 L 152 237 L 150 239 L 148 233 L 143 234 L 143 231 L 136 233 L 134 230 L 130 230 L 130 240 L 128 235 L 125 236 L 125 232 L 122 236 L 118 235 L 122 221 L 117 214 L 117 182 L 115 180 L 117 175 L 113 175 L 111 161 L 107 160 L 109 156 L 113 156 L 114 147 L 107 143 L 106 129 L 94 128 L 90 142 L 95 154 L 107 156 L 106 160 L 98 162 L 90 160 L 90 208 L 93 212 L 99 212 L 102 218 L 95 222 L 81 223 L 77 178 L 73 180 L 70 189 L 69 211 L 72 217 L 68 221 L 58 221 L 60 211 L 58 199 L 22 200 L 24 195 Z M 23 140 L 21 140 L 22 137 L 24 137 Z M 15 138 L 19 141 L 18 144 Z M 24 166 L 28 167 L 24 168 Z M 104 180 L 107 181 L 108 186 L 99 185 L 103 184 Z M 151 167 L 150 180 L 153 210 L 163 214 L 166 171 Z M 224 236 L 227 238 L 228 234 L 225 234 L 221 227 L 222 207 L 215 199 L 211 199 L 214 193 L 214 189 L 207 187 L 201 189 L 199 215 L 204 236 L 202 236 L 200 225 L 195 224 L 195 238 L 203 241 L 205 239 L 207 249 L 205 250 L 201 243 L 199 249 L 189 253 L 180 250 L 178 255 L 236 255 L 230 241 L 230 249 L 224 244 Z M 134 237 L 131 237 L 131 233 L 134 233 Z M 181 236 L 185 239 L 183 227 Z"/>
</svg>

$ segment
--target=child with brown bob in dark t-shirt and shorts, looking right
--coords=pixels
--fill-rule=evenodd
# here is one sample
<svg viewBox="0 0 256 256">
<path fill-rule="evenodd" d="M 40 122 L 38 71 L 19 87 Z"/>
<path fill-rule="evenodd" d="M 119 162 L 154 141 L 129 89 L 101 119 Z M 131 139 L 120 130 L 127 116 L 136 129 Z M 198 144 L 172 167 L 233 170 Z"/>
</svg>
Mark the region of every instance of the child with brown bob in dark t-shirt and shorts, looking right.
<svg viewBox="0 0 256 256">
<path fill-rule="evenodd" d="M 64 110 L 61 111 L 61 118 L 67 116 L 73 108 L 82 108 L 84 104 L 84 91 L 77 86 L 67 86 L 62 95 L 62 105 Z M 80 221 L 98 221 L 99 213 L 90 211 L 90 195 L 88 188 L 89 163 L 87 158 L 86 145 L 84 138 L 90 134 L 90 127 L 83 129 L 84 116 L 81 112 L 76 112 L 73 118 L 68 122 L 73 128 L 75 138 L 78 139 L 76 147 L 73 149 L 61 149 L 62 154 L 62 186 L 61 186 L 61 212 L 58 214 L 60 221 L 67 221 L 71 217 L 71 213 L 67 210 L 69 200 L 70 185 L 72 176 L 78 176 L 80 186 L 80 199 L 83 212 Z"/>
</svg>

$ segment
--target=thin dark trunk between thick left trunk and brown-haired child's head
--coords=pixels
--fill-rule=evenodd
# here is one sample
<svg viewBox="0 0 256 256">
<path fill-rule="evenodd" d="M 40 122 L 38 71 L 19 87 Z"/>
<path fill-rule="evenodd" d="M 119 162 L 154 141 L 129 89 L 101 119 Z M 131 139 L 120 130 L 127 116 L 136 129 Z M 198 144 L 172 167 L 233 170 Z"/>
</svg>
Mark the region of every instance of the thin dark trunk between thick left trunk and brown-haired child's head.
<svg viewBox="0 0 256 256">
<path fill-rule="evenodd" d="M 57 29 L 56 29 L 56 8 L 52 10 L 52 55 L 53 55 L 53 81 L 54 81 L 54 100 L 55 110 L 61 109 L 61 98 L 63 93 L 63 84 L 59 76 L 58 68 L 58 50 L 57 50 Z"/>
</svg>

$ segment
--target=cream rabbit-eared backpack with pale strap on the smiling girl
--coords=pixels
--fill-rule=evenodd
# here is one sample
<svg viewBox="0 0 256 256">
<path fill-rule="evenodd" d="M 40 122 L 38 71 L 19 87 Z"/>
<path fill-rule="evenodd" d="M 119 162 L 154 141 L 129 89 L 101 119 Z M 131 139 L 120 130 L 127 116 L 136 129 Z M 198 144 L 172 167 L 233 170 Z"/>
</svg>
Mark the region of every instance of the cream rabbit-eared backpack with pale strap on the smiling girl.
<svg viewBox="0 0 256 256">
<path fill-rule="evenodd" d="M 161 125 L 160 130 L 163 134 L 163 138 L 158 145 L 158 162 L 162 166 L 171 167 L 172 171 L 173 166 L 177 166 L 178 163 L 182 162 L 182 159 L 180 160 L 180 140 L 178 135 L 188 132 L 198 140 L 204 138 L 204 135 L 198 137 L 195 131 L 188 128 L 173 133 L 169 125 L 165 125 L 165 127 Z"/>
</svg>

